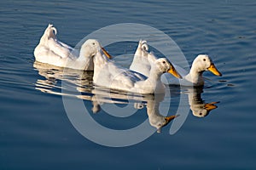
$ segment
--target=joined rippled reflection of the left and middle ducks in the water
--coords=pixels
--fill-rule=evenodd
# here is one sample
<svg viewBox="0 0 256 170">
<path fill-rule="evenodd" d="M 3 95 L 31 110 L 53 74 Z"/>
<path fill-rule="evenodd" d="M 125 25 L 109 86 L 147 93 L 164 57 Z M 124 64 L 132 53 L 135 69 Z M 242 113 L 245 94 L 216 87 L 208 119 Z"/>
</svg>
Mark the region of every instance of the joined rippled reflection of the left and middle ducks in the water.
<svg viewBox="0 0 256 170">
<path fill-rule="evenodd" d="M 90 100 L 92 102 L 92 112 L 101 111 L 101 105 L 108 104 L 131 104 L 135 109 L 146 109 L 148 121 L 152 127 L 160 133 L 161 127 L 165 127 L 176 116 L 162 116 L 159 111 L 160 102 L 165 99 L 165 94 L 127 94 L 117 90 L 111 90 L 93 87 L 92 71 L 66 70 L 60 67 L 53 68 L 53 65 L 47 67 L 46 64 L 35 61 L 34 67 L 38 70 L 38 74 L 45 77 L 45 80 L 38 79 L 36 89 L 49 94 L 60 94 L 55 88 L 58 87 L 58 81 L 71 82 L 79 92 L 74 97 L 79 99 Z M 61 85 L 60 85 L 61 86 Z M 69 94 L 62 94 L 69 95 Z"/>
</svg>

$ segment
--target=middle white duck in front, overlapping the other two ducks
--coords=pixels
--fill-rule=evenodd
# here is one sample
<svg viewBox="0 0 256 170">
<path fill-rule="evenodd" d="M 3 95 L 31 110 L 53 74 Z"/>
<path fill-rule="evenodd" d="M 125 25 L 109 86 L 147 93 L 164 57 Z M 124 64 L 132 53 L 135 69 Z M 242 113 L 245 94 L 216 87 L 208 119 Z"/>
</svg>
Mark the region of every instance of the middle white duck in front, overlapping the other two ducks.
<svg viewBox="0 0 256 170">
<path fill-rule="evenodd" d="M 149 77 L 108 62 L 108 59 L 100 51 L 96 54 L 94 63 L 93 82 L 97 86 L 131 93 L 164 94 L 165 85 L 160 82 L 160 76 L 163 73 L 169 72 L 181 78 L 169 60 L 165 58 L 157 59 L 154 65 L 151 65 Z"/>
</svg>

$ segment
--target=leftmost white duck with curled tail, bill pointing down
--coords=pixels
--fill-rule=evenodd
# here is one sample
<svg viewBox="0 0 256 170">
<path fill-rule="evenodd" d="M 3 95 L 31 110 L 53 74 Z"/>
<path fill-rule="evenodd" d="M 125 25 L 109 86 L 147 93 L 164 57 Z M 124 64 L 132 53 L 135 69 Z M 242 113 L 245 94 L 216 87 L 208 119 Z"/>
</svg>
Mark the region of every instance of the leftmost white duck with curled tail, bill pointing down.
<svg viewBox="0 0 256 170">
<path fill-rule="evenodd" d="M 57 40 L 56 34 L 56 28 L 49 24 L 34 50 L 36 60 L 49 65 L 93 71 L 92 57 L 99 48 L 102 48 L 100 43 L 94 39 L 89 39 L 84 42 L 78 53 L 67 44 Z M 106 56 L 111 57 L 104 48 L 102 51 Z"/>
</svg>

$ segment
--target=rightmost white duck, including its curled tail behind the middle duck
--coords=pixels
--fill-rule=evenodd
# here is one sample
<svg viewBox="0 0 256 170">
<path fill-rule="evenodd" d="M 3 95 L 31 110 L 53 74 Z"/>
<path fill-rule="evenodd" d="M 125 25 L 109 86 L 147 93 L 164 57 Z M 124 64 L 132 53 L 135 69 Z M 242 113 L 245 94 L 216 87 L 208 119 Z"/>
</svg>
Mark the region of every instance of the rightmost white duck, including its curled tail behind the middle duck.
<svg viewBox="0 0 256 170">
<path fill-rule="evenodd" d="M 151 63 L 153 63 L 156 59 L 157 57 L 152 52 L 148 53 L 147 42 L 140 40 L 130 69 L 131 71 L 137 71 L 145 76 L 148 76 Z M 177 78 L 171 76 L 162 77 L 161 81 L 165 84 L 202 86 L 204 85 L 204 79 L 202 77 L 202 73 L 204 71 L 211 71 L 213 74 L 219 77 L 222 76 L 222 74 L 213 64 L 212 59 L 207 54 L 200 54 L 195 58 L 189 73 L 178 65 L 173 64 L 173 66 L 176 68 L 177 72 L 181 74 L 183 79 L 178 80 Z"/>
</svg>

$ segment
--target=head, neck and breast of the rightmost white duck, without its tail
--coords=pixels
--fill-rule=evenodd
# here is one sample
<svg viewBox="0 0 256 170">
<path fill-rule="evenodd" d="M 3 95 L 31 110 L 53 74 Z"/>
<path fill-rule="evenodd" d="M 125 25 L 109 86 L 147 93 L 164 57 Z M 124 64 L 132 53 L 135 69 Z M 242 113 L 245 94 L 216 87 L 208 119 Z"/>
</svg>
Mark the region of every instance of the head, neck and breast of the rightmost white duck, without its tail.
<svg viewBox="0 0 256 170">
<path fill-rule="evenodd" d="M 182 67 L 176 66 L 177 71 L 183 77 L 182 80 L 177 80 L 174 77 L 162 78 L 165 84 L 176 84 L 182 86 L 203 86 L 204 78 L 202 74 L 204 71 L 211 71 L 214 75 L 221 77 L 222 74 L 218 71 L 212 62 L 212 59 L 207 54 L 199 54 L 193 61 L 189 73 Z"/>
</svg>

